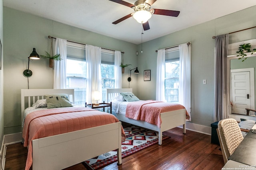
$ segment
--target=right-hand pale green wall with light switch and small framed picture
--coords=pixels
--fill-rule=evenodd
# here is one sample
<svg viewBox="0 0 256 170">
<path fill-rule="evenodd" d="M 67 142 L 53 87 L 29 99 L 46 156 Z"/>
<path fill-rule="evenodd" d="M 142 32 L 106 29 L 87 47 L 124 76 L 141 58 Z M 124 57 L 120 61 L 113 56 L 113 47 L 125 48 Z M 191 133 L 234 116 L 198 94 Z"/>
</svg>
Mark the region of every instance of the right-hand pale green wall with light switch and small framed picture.
<svg viewBox="0 0 256 170">
<path fill-rule="evenodd" d="M 193 27 L 165 35 L 142 44 L 139 53 L 140 70 L 151 70 L 151 81 L 144 82 L 138 76 L 138 96 L 140 99 L 156 98 L 156 58 L 155 50 L 191 42 L 191 122 L 210 126 L 214 122 L 214 48 L 212 36 L 231 33 L 256 25 L 256 6 L 217 18 Z M 246 17 L 245 17 L 246 16 Z M 147 31 L 144 32 L 147 36 Z M 230 34 L 230 43 L 256 38 L 256 29 Z M 140 51 L 141 45 L 138 45 Z M 206 79 L 207 84 L 202 81 Z M 145 88 L 146 87 L 146 88 Z"/>
</svg>

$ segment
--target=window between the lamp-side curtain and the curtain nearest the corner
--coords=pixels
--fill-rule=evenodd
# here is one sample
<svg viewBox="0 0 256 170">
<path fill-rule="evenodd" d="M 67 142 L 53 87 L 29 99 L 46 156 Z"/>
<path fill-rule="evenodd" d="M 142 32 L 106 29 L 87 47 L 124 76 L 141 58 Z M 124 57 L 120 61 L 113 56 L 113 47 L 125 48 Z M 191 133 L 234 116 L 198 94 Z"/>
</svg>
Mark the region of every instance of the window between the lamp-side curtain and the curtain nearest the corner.
<svg viewBox="0 0 256 170">
<path fill-rule="evenodd" d="M 101 51 L 101 78 L 102 78 L 102 101 L 107 100 L 107 88 L 114 88 L 114 58 L 115 53 L 111 50 Z"/>
</svg>

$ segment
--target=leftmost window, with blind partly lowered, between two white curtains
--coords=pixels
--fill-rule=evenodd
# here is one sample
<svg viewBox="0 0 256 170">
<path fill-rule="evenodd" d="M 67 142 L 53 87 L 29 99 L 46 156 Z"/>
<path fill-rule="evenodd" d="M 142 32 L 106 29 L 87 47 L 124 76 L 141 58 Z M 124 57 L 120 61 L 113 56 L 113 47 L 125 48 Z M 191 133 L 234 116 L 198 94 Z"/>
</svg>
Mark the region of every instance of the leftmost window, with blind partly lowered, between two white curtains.
<svg viewBox="0 0 256 170">
<path fill-rule="evenodd" d="M 67 42 L 66 88 L 73 88 L 75 104 L 86 102 L 85 45 Z"/>
</svg>

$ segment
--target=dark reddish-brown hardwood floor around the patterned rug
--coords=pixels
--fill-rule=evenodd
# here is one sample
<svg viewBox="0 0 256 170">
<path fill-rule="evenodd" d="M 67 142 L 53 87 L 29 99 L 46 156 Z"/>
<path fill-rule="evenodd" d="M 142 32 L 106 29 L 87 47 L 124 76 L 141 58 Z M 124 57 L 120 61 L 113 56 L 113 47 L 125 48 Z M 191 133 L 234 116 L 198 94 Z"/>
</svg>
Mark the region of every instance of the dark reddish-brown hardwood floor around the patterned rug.
<svg viewBox="0 0 256 170">
<path fill-rule="evenodd" d="M 221 170 L 224 166 L 220 146 L 211 144 L 211 137 L 193 131 L 182 133 L 174 128 L 164 132 L 170 138 L 162 145 L 152 145 L 102 170 Z M 5 170 L 24 170 L 27 149 L 21 143 L 8 145 Z M 82 163 L 65 170 L 86 170 Z"/>
</svg>

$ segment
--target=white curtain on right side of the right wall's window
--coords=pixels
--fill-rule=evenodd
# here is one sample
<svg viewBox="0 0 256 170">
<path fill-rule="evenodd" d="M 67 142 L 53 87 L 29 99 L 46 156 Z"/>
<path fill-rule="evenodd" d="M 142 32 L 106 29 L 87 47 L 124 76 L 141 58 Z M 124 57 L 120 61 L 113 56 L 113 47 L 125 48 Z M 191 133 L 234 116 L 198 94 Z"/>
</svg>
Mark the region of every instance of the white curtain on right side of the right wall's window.
<svg viewBox="0 0 256 170">
<path fill-rule="evenodd" d="M 180 49 L 180 86 L 179 86 L 179 103 L 182 104 L 189 116 L 191 112 L 191 49 L 187 43 L 179 45 Z M 186 119 L 186 121 L 191 121 Z"/>
</svg>

